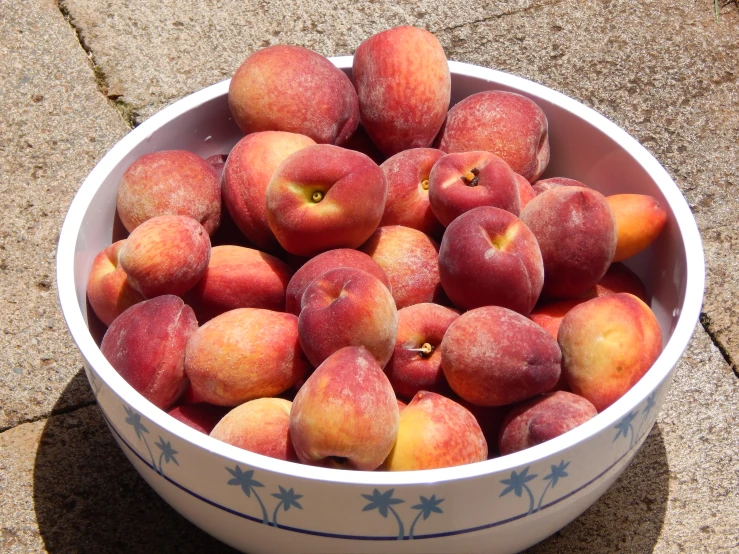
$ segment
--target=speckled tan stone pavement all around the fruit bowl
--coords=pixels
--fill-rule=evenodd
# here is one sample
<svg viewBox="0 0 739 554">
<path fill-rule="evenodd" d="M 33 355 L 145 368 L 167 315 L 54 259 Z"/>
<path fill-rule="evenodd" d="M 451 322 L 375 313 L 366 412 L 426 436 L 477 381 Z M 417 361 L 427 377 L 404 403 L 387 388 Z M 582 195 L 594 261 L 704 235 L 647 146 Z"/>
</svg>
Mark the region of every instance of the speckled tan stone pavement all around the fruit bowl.
<svg viewBox="0 0 739 554">
<path fill-rule="evenodd" d="M 87 173 L 130 128 L 257 48 L 351 54 L 412 24 L 449 59 L 600 111 L 667 168 L 706 252 L 701 324 L 647 442 L 534 547 L 739 551 L 739 9 L 712 0 L 0 0 L 0 552 L 229 551 L 164 504 L 94 405 L 56 300 L 55 249 Z"/>
</svg>

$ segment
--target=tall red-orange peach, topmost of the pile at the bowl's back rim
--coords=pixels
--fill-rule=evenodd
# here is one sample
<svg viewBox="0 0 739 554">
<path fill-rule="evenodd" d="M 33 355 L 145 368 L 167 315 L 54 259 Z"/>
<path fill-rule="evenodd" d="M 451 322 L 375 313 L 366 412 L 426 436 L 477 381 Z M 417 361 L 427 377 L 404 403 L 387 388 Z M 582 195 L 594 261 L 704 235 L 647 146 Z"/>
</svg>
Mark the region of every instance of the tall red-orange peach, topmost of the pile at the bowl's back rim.
<svg viewBox="0 0 739 554">
<path fill-rule="evenodd" d="M 444 49 L 424 29 L 402 26 L 372 35 L 354 53 L 362 125 L 387 156 L 431 145 L 451 97 Z"/>
</svg>

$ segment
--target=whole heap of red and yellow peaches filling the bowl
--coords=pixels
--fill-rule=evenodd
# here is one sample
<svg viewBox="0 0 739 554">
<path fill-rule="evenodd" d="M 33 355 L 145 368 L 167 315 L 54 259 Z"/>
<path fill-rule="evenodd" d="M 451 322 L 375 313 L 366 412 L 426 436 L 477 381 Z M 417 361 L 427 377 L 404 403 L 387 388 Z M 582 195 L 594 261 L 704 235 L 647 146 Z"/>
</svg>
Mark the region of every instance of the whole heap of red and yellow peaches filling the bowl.
<svg viewBox="0 0 739 554">
<path fill-rule="evenodd" d="M 87 288 L 112 366 L 216 439 L 358 470 L 516 452 L 620 398 L 662 336 L 619 262 L 665 210 L 540 179 L 541 108 L 487 91 L 450 109 L 450 89 L 413 27 L 365 40 L 353 80 L 305 48 L 250 55 L 231 152 L 122 177 L 130 234 Z"/>
</svg>

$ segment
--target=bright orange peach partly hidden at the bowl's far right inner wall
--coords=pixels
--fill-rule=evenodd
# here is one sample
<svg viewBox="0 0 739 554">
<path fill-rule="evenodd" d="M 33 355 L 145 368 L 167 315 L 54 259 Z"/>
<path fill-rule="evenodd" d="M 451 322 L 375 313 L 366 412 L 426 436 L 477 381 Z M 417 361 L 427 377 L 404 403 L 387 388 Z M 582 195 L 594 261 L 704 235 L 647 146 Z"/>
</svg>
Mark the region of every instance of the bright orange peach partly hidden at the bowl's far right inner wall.
<svg viewBox="0 0 739 554">
<path fill-rule="evenodd" d="M 620 262 L 635 256 L 662 232 L 667 211 L 647 194 L 614 194 L 606 201 L 616 218 L 618 242 L 613 260 Z"/>
</svg>

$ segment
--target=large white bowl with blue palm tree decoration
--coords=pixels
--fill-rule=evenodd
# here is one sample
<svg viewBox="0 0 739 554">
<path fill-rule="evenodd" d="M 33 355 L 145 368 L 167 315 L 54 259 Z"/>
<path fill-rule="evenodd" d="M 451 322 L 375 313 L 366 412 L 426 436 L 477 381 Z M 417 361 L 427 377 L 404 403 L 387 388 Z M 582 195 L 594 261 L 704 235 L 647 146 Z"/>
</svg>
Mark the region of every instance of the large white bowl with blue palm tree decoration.
<svg viewBox="0 0 739 554">
<path fill-rule="evenodd" d="M 352 58 L 331 61 L 351 75 Z M 116 192 L 142 154 L 225 154 L 242 137 L 228 81 L 196 92 L 134 129 L 84 181 L 57 252 L 59 300 L 113 437 L 151 487 L 184 517 L 248 552 L 516 552 L 575 519 L 621 474 L 657 417 L 698 320 L 703 250 L 679 189 L 618 126 L 556 91 L 499 71 L 450 62 L 452 103 L 498 89 L 537 102 L 549 120 L 545 176 L 578 179 L 602 193 L 642 193 L 666 207 L 660 237 L 627 265 L 647 288 L 664 337 L 649 372 L 580 427 L 539 446 L 466 466 L 351 472 L 284 462 L 203 435 L 134 391 L 90 331 L 85 288 L 95 255 L 111 244 Z"/>
</svg>

